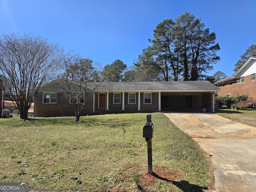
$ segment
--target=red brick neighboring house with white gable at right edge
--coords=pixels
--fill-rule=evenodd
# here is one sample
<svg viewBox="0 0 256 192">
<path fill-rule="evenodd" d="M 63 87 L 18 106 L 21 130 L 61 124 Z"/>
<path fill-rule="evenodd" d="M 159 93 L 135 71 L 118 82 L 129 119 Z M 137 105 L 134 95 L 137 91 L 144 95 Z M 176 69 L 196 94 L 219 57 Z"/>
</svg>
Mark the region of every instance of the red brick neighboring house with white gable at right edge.
<svg viewBox="0 0 256 192">
<path fill-rule="evenodd" d="M 221 90 L 219 96 L 238 96 L 248 94 L 249 99 L 256 101 L 256 57 L 250 57 L 233 75 L 214 84 Z"/>
</svg>

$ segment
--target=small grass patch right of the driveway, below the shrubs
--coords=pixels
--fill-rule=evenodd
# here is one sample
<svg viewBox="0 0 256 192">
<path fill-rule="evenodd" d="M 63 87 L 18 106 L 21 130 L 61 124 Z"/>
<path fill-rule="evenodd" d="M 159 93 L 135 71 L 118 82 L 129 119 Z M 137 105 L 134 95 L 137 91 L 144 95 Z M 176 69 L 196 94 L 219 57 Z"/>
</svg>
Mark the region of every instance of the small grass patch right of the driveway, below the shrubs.
<svg viewBox="0 0 256 192">
<path fill-rule="evenodd" d="M 256 127 L 255 108 L 244 108 L 241 110 L 219 109 L 218 115 L 242 124 Z"/>
</svg>

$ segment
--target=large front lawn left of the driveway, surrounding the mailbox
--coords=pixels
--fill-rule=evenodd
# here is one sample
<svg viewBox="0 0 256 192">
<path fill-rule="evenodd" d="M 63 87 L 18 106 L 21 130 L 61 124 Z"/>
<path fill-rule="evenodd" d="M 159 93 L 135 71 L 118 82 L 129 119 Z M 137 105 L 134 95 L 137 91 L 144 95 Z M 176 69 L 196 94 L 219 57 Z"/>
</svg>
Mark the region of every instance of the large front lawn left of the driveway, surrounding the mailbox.
<svg viewBox="0 0 256 192">
<path fill-rule="evenodd" d="M 0 119 L 0 182 L 33 191 L 202 192 L 212 187 L 204 152 L 153 113 L 153 172 L 147 174 L 146 114 Z"/>
</svg>

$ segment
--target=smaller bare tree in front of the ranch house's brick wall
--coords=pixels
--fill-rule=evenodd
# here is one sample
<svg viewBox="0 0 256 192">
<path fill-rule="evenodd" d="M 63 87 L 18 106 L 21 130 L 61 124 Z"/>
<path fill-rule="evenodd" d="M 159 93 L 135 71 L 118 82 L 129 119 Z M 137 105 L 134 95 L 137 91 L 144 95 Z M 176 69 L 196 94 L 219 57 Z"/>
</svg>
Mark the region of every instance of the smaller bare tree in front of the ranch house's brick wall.
<svg viewBox="0 0 256 192">
<path fill-rule="evenodd" d="M 94 68 L 93 61 L 89 58 L 81 58 L 79 55 L 73 55 L 72 52 L 67 54 L 62 52 L 61 65 L 64 71 L 59 75 L 60 81 L 55 82 L 66 92 L 73 104 L 76 121 L 79 121 L 87 99 L 102 80 L 98 75 L 99 71 Z"/>
</svg>

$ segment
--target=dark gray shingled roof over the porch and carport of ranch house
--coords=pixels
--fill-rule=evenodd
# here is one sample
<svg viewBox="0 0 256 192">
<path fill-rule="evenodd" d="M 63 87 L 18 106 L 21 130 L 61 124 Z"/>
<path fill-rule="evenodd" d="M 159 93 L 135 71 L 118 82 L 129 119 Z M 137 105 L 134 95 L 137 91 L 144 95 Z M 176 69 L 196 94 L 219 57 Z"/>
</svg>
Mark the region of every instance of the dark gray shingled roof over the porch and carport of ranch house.
<svg viewBox="0 0 256 192">
<path fill-rule="evenodd" d="M 157 90 L 157 91 L 181 91 L 181 90 L 198 90 L 214 91 L 220 90 L 217 86 L 209 81 L 168 81 L 168 82 L 102 82 L 96 90 Z"/>
</svg>

